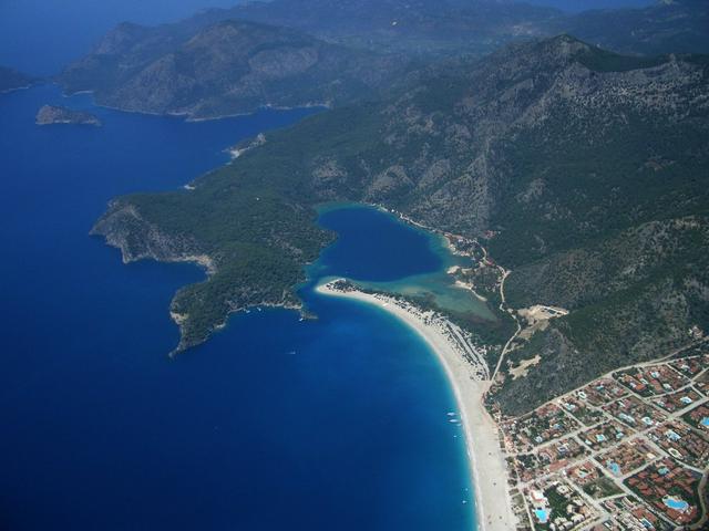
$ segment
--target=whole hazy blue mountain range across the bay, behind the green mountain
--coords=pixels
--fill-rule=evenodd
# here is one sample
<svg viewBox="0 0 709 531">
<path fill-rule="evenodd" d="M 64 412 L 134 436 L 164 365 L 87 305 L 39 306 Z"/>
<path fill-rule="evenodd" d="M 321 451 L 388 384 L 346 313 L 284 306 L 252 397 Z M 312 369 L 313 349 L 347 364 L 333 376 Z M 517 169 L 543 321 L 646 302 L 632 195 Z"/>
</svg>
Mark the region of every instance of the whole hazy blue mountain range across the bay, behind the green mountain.
<svg viewBox="0 0 709 531">
<path fill-rule="evenodd" d="M 575 15 L 492 0 L 274 0 L 123 23 L 58 81 L 126 111 L 209 118 L 372 97 L 414 58 L 480 56 L 559 32 L 631 54 L 709 52 L 708 17 L 699 0 Z"/>
</svg>

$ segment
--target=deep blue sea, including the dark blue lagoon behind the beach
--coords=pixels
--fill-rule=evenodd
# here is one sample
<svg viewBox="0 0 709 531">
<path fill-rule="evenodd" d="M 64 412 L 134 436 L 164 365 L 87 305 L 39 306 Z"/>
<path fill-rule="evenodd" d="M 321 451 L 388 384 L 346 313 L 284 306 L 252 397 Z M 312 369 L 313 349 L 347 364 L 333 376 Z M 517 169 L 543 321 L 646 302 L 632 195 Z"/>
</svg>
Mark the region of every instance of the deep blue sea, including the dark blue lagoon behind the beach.
<svg viewBox="0 0 709 531">
<path fill-rule="evenodd" d="M 44 103 L 104 127 L 35 126 Z M 318 320 L 235 315 L 171 361 L 169 300 L 202 271 L 124 266 L 89 237 L 110 198 L 179 187 L 306 114 L 188 124 L 49 85 L 0 95 L 0 530 L 473 527 L 454 400 L 413 332 L 306 287 Z M 321 221 L 340 240 L 314 274 L 441 267 L 425 235 L 376 210 Z"/>
</svg>

